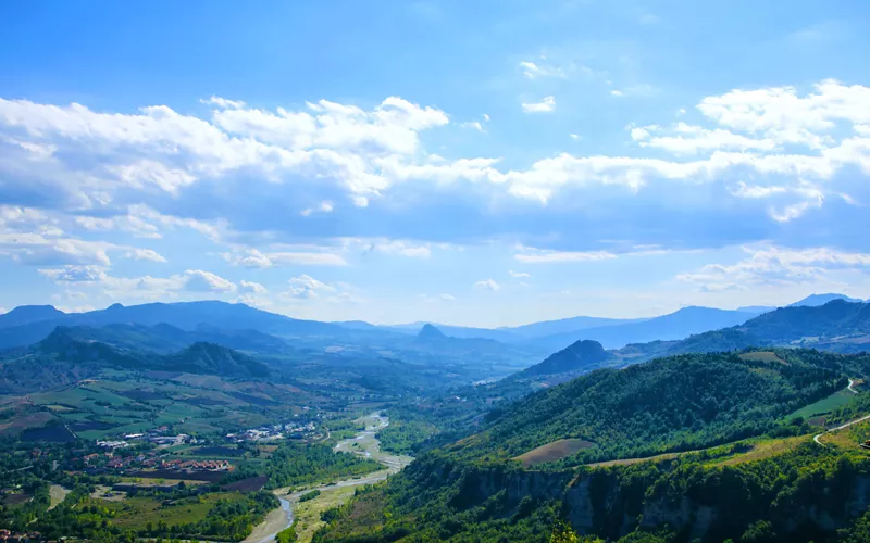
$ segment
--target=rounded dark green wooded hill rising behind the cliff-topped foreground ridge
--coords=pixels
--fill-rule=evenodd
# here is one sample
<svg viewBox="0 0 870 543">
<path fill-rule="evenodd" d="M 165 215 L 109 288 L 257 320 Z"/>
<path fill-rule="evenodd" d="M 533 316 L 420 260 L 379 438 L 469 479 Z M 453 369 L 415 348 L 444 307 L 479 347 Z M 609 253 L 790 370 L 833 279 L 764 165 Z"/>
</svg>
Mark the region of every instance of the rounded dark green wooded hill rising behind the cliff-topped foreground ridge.
<svg viewBox="0 0 870 543">
<path fill-rule="evenodd" d="M 595 445 L 572 462 L 686 451 L 756 435 L 846 384 L 847 359 L 778 351 L 783 362 L 735 353 L 687 354 L 601 369 L 488 415 L 482 432 L 450 445 L 463 459 L 506 459 L 563 439 Z"/>
</svg>

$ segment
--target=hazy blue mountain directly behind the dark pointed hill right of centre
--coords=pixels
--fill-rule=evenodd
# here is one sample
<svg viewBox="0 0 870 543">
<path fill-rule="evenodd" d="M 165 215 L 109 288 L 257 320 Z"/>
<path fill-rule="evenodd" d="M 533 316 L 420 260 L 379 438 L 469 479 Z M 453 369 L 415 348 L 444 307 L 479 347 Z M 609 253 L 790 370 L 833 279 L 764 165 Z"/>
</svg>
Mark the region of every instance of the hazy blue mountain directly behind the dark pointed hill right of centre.
<svg viewBox="0 0 870 543">
<path fill-rule="evenodd" d="M 589 339 L 598 341 L 606 349 L 619 349 L 630 343 L 679 340 L 693 333 L 739 325 L 754 316 L 756 314 L 739 311 L 694 306 L 683 307 L 674 313 L 647 320 L 586 328 L 585 330 L 535 338 L 530 342 L 556 351 L 564 349 L 579 340 Z"/>
</svg>

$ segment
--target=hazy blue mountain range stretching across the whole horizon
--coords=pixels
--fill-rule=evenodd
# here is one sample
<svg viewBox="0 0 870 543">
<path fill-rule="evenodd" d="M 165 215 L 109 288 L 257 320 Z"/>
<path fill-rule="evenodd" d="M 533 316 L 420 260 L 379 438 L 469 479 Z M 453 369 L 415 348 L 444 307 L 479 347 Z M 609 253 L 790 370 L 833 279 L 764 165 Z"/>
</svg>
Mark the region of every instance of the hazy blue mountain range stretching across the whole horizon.
<svg viewBox="0 0 870 543">
<path fill-rule="evenodd" d="M 831 300 L 856 301 L 842 294 L 813 294 L 790 307 L 818 306 Z M 735 311 L 692 306 L 644 319 L 579 316 L 487 329 L 428 323 L 397 326 L 364 321 L 322 323 L 219 301 L 114 304 L 87 313 L 63 313 L 50 305 L 30 305 L 0 315 L 0 349 L 36 343 L 59 326 L 87 327 L 90 331 L 83 329 L 77 333 L 80 337 L 91 334 L 92 339 L 122 348 L 144 348 L 158 353 L 201 341 L 253 352 L 313 349 L 399 355 L 411 362 L 427 362 L 431 356 L 452 356 L 460 363 L 468 355 L 474 355 L 504 371 L 505 368 L 529 366 L 580 340 L 597 341 L 610 350 L 624 348 L 626 351 L 621 356 L 630 358 L 637 357 L 630 356 L 631 351 L 636 350 L 630 345 L 660 341 L 664 343 L 659 345 L 660 350 L 652 350 L 654 354 L 666 354 L 673 349 L 667 342 L 743 325 L 767 310 L 766 306 Z M 646 354 L 641 353 L 641 356 Z"/>
</svg>

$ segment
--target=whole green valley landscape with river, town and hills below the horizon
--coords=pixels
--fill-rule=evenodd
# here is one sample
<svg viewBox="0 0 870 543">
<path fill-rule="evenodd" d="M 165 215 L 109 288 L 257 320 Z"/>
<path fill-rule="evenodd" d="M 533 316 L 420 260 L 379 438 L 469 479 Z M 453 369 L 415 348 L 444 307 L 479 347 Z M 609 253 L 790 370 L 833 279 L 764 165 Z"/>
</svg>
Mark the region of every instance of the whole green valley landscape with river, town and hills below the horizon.
<svg viewBox="0 0 870 543">
<path fill-rule="evenodd" d="M 380 354 L 371 337 L 219 328 L 229 308 L 187 330 L 64 325 L 0 353 L 2 518 L 115 540 L 548 541 L 559 518 L 614 541 L 749 541 L 759 521 L 787 539 L 783 519 L 803 518 L 788 503 L 821 506 L 793 496 L 805 478 L 870 473 L 870 355 L 850 339 L 870 329 L 866 307 L 617 350 L 584 339 L 519 367 L 514 348 L 428 325 L 390 331 Z M 782 481 L 755 481 L 770 469 Z M 735 477 L 784 509 L 712 497 Z M 870 505 L 862 488 L 823 492 Z M 674 509 L 669 489 L 695 497 Z M 860 515 L 836 503 L 825 514 L 848 530 Z"/>
</svg>

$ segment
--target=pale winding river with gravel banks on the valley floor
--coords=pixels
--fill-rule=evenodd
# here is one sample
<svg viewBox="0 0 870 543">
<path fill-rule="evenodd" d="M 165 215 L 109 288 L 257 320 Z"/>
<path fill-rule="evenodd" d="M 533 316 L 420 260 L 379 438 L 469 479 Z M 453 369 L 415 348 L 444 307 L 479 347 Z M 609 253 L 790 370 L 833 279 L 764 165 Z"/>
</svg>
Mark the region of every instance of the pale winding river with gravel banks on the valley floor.
<svg viewBox="0 0 870 543">
<path fill-rule="evenodd" d="M 245 543 L 269 543 L 270 541 L 274 541 L 275 534 L 293 525 L 293 504 L 297 503 L 299 496 L 302 494 L 311 492 L 314 489 L 330 491 L 380 482 L 390 475 L 399 472 L 413 460 L 411 456 L 400 456 L 381 451 L 381 442 L 377 440 L 377 432 L 389 426 L 389 417 L 381 416 L 378 412 L 375 412 L 359 420 L 365 425 L 365 429 L 351 439 L 339 441 L 333 450 L 337 453 L 353 453 L 371 458 L 381 463 L 385 469 L 369 473 L 364 477 L 337 480 L 290 494 L 287 493 L 289 489 L 275 491 L 281 501 L 281 507 L 272 510 L 266 516 L 265 520 L 253 529 L 251 534 L 245 540 Z"/>
</svg>

